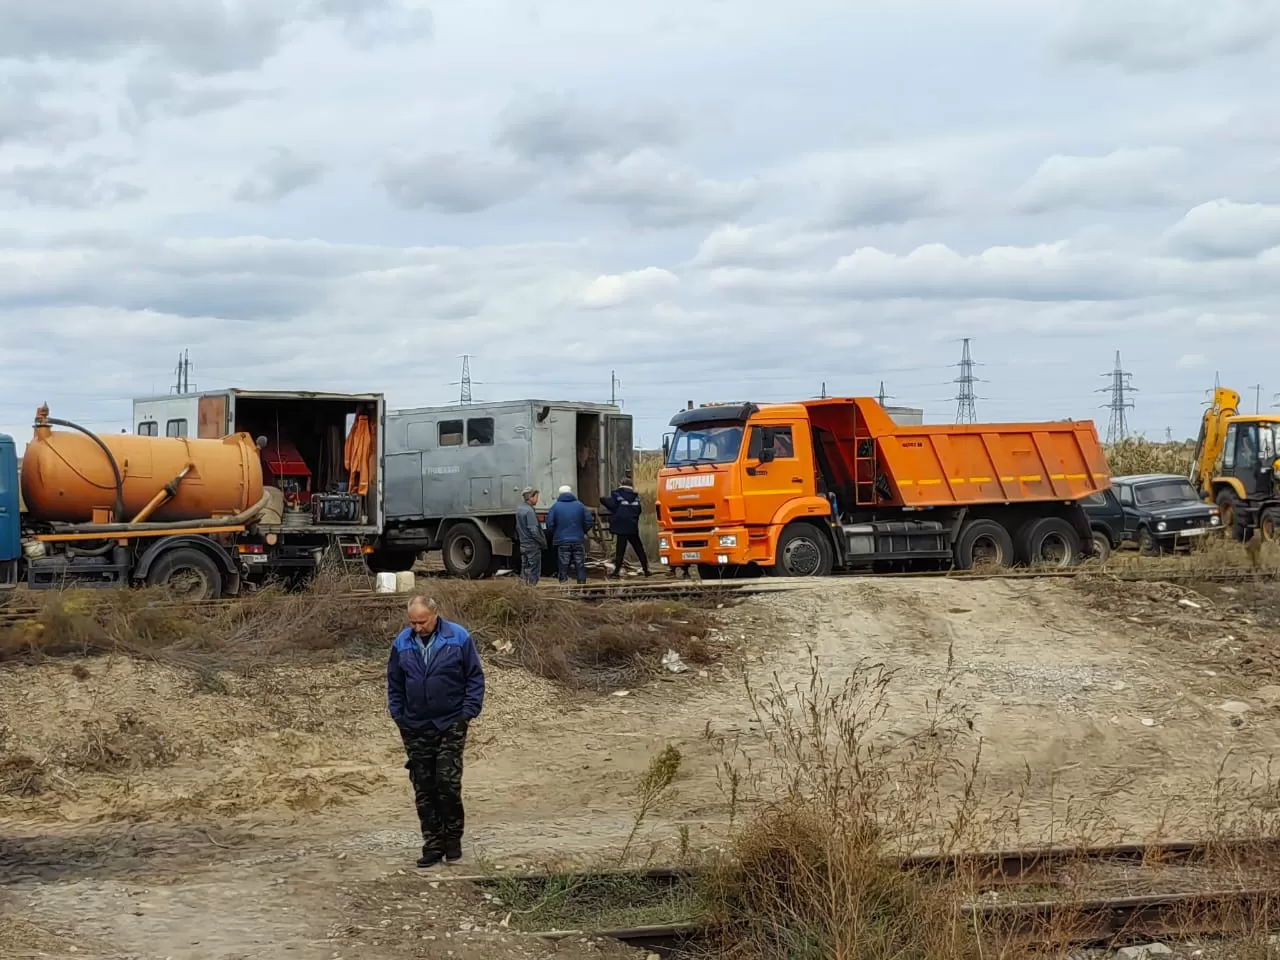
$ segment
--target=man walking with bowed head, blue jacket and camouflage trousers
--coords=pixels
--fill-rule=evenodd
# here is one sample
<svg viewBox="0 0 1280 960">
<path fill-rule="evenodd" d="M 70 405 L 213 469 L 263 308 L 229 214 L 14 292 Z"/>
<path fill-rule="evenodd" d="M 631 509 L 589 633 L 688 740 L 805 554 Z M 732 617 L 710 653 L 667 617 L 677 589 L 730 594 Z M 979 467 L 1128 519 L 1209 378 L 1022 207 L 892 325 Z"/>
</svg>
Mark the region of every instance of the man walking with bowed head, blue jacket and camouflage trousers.
<svg viewBox="0 0 1280 960">
<path fill-rule="evenodd" d="M 462 751 L 483 708 L 484 668 L 471 635 L 440 617 L 435 600 L 415 596 L 387 660 L 387 709 L 404 741 L 422 827 L 419 867 L 462 856 Z"/>
</svg>

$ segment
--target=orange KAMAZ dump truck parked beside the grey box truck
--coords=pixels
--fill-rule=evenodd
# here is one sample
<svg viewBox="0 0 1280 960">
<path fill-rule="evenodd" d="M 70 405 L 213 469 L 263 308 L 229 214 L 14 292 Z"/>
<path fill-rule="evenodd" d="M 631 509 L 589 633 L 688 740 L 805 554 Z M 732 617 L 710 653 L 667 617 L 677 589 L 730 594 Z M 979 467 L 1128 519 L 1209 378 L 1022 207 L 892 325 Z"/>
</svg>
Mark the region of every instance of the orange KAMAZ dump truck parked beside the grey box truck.
<svg viewBox="0 0 1280 960">
<path fill-rule="evenodd" d="M 681 411 L 658 474 L 659 557 L 764 570 L 1073 563 L 1111 485 L 1092 421 L 893 422 L 869 397 Z"/>
</svg>

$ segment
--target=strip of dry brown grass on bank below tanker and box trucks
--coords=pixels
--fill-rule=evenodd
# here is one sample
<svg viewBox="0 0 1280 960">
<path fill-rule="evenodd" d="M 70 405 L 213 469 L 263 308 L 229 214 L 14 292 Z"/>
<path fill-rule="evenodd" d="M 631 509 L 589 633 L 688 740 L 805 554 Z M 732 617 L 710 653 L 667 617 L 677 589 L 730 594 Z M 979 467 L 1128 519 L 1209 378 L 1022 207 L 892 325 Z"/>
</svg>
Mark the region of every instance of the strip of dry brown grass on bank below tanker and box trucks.
<svg viewBox="0 0 1280 960">
<path fill-rule="evenodd" d="M 264 590 L 234 603 L 173 604 L 151 590 L 32 594 L 29 616 L 0 621 L 0 663 L 127 654 L 189 667 L 216 692 L 218 671 L 279 658 L 335 659 L 385 652 L 404 626 L 404 598 L 352 598 L 324 580 L 310 591 Z M 586 689 L 639 682 L 675 649 L 714 659 L 709 604 L 581 603 L 516 580 L 433 582 L 444 616 L 467 627 L 483 655 Z"/>
</svg>

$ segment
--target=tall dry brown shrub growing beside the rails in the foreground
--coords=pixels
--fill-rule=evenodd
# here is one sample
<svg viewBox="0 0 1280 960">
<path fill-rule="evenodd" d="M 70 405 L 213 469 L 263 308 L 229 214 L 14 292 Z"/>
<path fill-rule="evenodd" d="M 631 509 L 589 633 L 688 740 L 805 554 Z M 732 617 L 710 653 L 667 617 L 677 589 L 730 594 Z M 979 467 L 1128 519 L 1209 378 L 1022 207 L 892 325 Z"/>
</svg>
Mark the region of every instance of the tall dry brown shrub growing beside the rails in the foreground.
<svg viewBox="0 0 1280 960">
<path fill-rule="evenodd" d="M 735 829 L 707 896 L 723 955 L 961 960 L 977 945 L 955 902 L 890 858 L 952 849 L 977 815 L 980 744 L 941 691 L 914 732 L 886 736 L 891 673 L 860 664 L 840 687 L 810 658 L 808 686 L 749 690 L 762 763 L 728 750 L 731 806 L 771 797 Z M 972 753 L 968 763 L 957 759 Z"/>
</svg>

